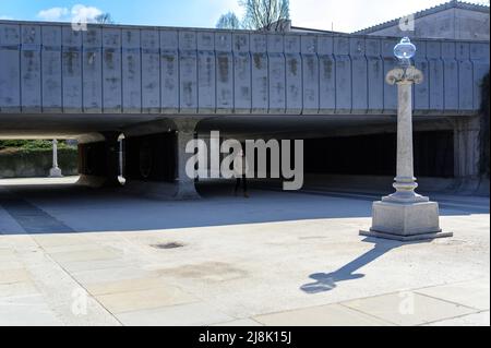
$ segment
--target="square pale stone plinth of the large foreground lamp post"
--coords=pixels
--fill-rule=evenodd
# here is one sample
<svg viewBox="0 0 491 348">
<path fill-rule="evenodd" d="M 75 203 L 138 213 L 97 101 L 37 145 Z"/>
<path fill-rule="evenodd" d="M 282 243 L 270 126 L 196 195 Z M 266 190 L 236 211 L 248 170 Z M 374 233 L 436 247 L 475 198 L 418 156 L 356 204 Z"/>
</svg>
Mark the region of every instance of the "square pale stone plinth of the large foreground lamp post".
<svg viewBox="0 0 491 348">
<path fill-rule="evenodd" d="M 429 240 L 452 237 L 442 232 L 436 202 L 374 202 L 373 223 L 361 236 L 385 238 L 399 241 Z"/>
</svg>

